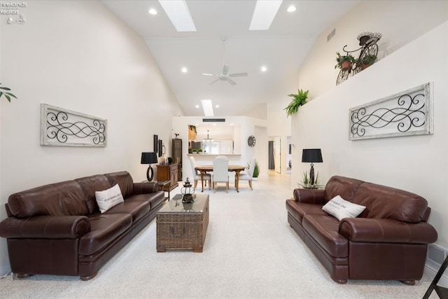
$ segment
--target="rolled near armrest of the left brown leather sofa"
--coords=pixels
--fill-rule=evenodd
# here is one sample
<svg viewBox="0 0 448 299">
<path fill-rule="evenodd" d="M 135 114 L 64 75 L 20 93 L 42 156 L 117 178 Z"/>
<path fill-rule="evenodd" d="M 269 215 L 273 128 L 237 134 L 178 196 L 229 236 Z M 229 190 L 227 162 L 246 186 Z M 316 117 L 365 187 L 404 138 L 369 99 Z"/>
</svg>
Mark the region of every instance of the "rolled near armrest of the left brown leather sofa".
<svg viewBox="0 0 448 299">
<path fill-rule="evenodd" d="M 8 217 L 0 222 L 0 237 L 77 239 L 90 232 L 86 216 Z"/>
</svg>

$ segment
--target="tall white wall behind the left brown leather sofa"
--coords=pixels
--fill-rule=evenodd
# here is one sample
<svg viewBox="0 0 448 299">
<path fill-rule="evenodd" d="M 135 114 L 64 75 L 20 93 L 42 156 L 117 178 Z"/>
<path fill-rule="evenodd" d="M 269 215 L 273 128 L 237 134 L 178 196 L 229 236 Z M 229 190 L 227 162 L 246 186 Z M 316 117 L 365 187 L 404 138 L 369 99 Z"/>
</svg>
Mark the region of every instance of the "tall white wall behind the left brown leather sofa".
<svg viewBox="0 0 448 299">
<path fill-rule="evenodd" d="M 45 183 L 127 170 L 146 179 L 142 151 L 153 134 L 172 137 L 181 115 L 144 41 L 99 1 L 27 1 L 27 22 L 1 18 L 1 83 L 19 99 L 0 101 L 0 218 L 8 195 Z M 39 104 L 108 120 L 104 148 L 39 145 Z M 167 148 L 169 150 L 169 148 Z M 8 271 L 0 239 L 0 273 Z"/>
</svg>

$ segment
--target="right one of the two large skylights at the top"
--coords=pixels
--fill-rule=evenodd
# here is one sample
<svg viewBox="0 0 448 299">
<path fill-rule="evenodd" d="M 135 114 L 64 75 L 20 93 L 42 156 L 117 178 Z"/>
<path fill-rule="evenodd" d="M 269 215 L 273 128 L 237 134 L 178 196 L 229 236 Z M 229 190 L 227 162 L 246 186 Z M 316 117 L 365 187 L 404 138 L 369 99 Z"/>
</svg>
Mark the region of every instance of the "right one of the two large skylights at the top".
<svg viewBox="0 0 448 299">
<path fill-rule="evenodd" d="M 267 30 L 283 0 L 257 0 L 249 30 Z"/>
</svg>

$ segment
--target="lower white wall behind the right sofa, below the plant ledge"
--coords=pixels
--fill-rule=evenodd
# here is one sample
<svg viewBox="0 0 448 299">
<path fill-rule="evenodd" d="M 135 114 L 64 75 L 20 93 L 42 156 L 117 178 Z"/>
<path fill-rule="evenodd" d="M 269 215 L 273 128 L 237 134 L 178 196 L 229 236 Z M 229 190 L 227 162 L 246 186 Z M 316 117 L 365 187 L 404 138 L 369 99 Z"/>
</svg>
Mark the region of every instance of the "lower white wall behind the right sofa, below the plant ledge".
<svg viewBox="0 0 448 299">
<path fill-rule="evenodd" d="M 309 165 L 300 162 L 302 148 L 322 149 L 314 168 L 326 183 L 342 175 L 419 194 L 432 208 L 429 223 L 436 244 L 448 249 L 448 22 L 408 43 L 383 60 L 302 106 L 293 117 L 293 177 L 300 181 Z M 425 57 L 424 63 L 419 57 Z M 349 109 L 434 84 L 434 134 L 349 141 Z"/>
</svg>

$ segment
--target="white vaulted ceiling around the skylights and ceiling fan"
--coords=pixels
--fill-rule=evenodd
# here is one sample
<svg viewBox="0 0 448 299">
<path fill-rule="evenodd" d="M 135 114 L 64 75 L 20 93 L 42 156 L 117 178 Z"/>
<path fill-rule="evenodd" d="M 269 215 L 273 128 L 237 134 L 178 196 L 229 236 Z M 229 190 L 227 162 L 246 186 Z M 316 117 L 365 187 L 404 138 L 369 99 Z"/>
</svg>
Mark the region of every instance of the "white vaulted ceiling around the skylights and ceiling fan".
<svg viewBox="0 0 448 299">
<path fill-rule="evenodd" d="M 316 37 L 359 1 L 283 1 L 268 30 L 250 31 L 255 2 L 186 0 L 197 31 L 176 32 L 158 1 L 103 1 L 146 41 L 186 116 L 204 115 L 202 99 L 211 99 L 215 116 L 240 116 L 296 92 L 297 70 Z M 291 5 L 297 10 L 288 13 Z M 248 76 L 210 84 L 218 77 L 202 73 L 219 74 L 223 64 Z"/>
</svg>

